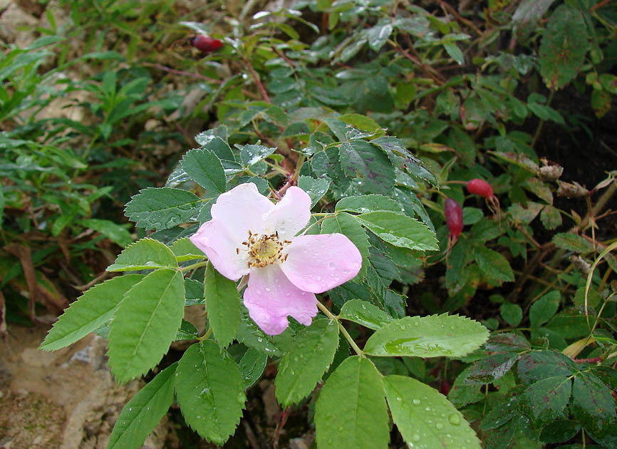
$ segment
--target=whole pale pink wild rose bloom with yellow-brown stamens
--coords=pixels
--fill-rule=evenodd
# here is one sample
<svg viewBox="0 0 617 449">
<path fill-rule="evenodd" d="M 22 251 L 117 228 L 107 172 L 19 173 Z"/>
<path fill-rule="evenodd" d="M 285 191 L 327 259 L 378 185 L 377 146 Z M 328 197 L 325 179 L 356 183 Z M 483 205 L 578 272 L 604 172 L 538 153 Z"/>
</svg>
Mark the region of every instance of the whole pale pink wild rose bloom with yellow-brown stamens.
<svg viewBox="0 0 617 449">
<path fill-rule="evenodd" d="M 299 187 L 289 187 L 275 205 L 254 184 L 241 184 L 220 195 L 211 214 L 191 242 L 224 277 L 249 275 L 244 305 L 266 334 L 284 331 L 288 315 L 309 326 L 315 294 L 353 279 L 362 267 L 358 248 L 343 234 L 296 237 L 311 217 L 311 198 Z"/>
</svg>

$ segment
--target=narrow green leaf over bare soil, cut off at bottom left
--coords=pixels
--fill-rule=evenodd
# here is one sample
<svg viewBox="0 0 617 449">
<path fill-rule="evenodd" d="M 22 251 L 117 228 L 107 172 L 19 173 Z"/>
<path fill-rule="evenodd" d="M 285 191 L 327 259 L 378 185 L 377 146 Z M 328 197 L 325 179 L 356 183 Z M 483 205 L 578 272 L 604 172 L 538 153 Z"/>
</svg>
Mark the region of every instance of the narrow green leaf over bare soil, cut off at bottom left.
<svg viewBox="0 0 617 449">
<path fill-rule="evenodd" d="M 108 449 L 139 448 L 174 401 L 177 363 L 158 373 L 131 398 L 118 416 Z"/>
</svg>

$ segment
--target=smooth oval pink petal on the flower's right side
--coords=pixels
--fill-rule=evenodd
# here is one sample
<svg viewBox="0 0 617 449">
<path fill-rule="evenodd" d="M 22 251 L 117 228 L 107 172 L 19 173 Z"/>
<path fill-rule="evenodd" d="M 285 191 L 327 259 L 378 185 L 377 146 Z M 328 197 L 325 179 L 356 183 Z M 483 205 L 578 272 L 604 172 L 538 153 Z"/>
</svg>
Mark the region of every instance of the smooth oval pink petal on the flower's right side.
<svg viewBox="0 0 617 449">
<path fill-rule="evenodd" d="M 343 234 L 301 235 L 292 239 L 281 270 L 301 290 L 321 293 L 356 277 L 362 256 Z"/>
</svg>

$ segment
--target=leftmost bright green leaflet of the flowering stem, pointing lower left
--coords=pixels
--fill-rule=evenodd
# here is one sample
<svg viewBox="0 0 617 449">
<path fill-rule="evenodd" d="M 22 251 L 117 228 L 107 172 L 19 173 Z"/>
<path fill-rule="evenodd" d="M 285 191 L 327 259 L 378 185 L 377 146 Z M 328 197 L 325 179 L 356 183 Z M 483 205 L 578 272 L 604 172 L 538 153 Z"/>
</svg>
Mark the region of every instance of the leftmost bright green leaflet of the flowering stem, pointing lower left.
<svg viewBox="0 0 617 449">
<path fill-rule="evenodd" d="M 125 274 L 88 289 L 53 324 L 41 349 L 56 351 L 103 326 L 113 316 L 125 293 L 143 278 L 141 274 Z"/>
</svg>

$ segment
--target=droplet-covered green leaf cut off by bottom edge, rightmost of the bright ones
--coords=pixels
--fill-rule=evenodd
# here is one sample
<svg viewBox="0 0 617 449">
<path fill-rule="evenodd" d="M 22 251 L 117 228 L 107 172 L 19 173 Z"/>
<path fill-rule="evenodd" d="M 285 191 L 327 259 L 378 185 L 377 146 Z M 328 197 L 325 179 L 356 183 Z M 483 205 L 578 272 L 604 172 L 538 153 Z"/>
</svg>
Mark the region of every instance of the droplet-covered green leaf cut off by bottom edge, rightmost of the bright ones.
<svg viewBox="0 0 617 449">
<path fill-rule="evenodd" d="M 469 423 L 434 388 L 405 376 L 383 378 L 392 419 L 410 448 L 481 448 Z"/>
</svg>

